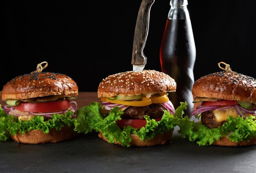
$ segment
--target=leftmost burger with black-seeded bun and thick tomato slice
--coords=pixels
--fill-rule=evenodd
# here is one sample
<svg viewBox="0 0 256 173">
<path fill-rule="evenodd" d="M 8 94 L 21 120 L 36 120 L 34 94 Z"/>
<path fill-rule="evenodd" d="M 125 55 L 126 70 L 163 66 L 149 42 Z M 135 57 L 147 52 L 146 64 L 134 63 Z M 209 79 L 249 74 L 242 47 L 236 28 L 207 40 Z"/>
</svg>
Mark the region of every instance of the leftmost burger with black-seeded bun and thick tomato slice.
<svg viewBox="0 0 256 173">
<path fill-rule="evenodd" d="M 64 74 L 34 72 L 11 79 L 2 89 L 0 140 L 10 136 L 44 144 L 74 138 L 77 96 L 76 82 Z"/>
</svg>

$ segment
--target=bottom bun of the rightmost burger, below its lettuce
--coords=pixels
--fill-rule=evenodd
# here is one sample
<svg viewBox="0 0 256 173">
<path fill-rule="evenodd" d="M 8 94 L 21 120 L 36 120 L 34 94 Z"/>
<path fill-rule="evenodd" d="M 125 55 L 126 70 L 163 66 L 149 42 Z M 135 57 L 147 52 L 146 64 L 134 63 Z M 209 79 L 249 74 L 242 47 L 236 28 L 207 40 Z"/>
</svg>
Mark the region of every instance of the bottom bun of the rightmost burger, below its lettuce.
<svg viewBox="0 0 256 173">
<path fill-rule="evenodd" d="M 229 147 L 247 146 L 247 145 L 254 145 L 254 144 L 256 144 L 256 137 L 252 138 L 248 142 L 246 141 L 232 142 L 226 136 L 222 136 L 220 140 L 216 140 L 213 142 L 213 145 L 229 146 Z"/>
</svg>

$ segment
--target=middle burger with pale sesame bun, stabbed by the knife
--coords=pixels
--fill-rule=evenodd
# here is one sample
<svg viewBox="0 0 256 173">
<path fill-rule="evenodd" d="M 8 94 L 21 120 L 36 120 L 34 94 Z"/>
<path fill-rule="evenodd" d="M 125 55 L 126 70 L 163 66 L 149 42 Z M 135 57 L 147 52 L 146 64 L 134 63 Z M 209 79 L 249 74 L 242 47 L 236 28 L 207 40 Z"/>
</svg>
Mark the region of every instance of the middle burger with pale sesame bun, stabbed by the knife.
<svg viewBox="0 0 256 173">
<path fill-rule="evenodd" d="M 155 70 L 120 72 L 103 79 L 98 86 L 102 104 L 93 102 L 79 109 L 87 114 L 88 126 L 99 138 L 122 146 L 155 146 L 170 142 L 173 129 L 186 108 L 178 110 L 168 99 L 176 83 Z"/>
</svg>

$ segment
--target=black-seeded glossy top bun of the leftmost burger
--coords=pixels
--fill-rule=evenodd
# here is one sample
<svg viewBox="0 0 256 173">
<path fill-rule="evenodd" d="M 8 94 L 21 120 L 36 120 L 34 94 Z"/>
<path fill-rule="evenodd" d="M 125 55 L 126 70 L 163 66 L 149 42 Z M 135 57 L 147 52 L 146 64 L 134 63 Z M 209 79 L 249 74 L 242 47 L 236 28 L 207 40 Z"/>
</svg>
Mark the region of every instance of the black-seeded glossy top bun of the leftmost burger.
<svg viewBox="0 0 256 173">
<path fill-rule="evenodd" d="M 67 75 L 60 73 L 35 72 L 13 78 L 2 89 L 3 101 L 52 95 L 77 97 L 76 82 Z"/>
</svg>

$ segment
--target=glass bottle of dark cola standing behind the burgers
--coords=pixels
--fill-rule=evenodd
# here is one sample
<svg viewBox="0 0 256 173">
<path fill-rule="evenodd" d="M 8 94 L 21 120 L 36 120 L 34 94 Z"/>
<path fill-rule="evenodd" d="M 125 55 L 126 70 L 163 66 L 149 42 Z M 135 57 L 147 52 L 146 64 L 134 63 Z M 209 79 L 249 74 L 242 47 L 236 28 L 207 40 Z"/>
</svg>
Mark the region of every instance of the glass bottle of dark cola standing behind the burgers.
<svg viewBox="0 0 256 173">
<path fill-rule="evenodd" d="M 175 109 L 180 102 L 186 101 L 188 107 L 184 112 L 190 115 L 193 110 L 191 90 L 194 83 L 195 42 L 187 4 L 187 0 L 170 2 L 171 9 L 160 48 L 160 62 L 162 72 L 177 83 L 176 92 L 168 94 L 170 101 Z"/>
</svg>

